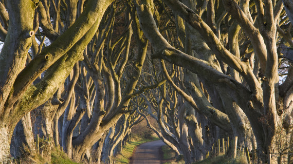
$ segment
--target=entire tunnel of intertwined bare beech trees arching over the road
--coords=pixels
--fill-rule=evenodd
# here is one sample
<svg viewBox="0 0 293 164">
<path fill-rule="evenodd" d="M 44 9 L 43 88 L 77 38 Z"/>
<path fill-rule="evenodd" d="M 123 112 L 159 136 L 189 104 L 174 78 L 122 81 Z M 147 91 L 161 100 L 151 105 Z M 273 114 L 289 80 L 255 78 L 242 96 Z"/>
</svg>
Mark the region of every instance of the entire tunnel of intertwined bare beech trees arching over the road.
<svg viewBox="0 0 293 164">
<path fill-rule="evenodd" d="M 2 0 L 0 161 L 38 134 L 113 163 L 147 115 L 186 163 L 220 136 L 290 153 L 292 18 L 286 0 Z"/>
</svg>

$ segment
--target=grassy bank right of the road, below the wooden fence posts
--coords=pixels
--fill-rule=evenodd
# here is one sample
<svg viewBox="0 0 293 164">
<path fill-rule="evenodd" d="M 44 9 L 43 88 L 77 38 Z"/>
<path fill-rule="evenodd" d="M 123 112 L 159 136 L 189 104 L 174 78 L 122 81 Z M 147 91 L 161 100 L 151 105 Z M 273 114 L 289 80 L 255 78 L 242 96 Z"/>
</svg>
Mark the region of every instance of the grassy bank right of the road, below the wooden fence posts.
<svg viewBox="0 0 293 164">
<path fill-rule="evenodd" d="M 163 164 L 184 164 L 185 161 L 181 158 L 176 159 L 175 153 L 168 146 L 162 146 L 163 158 L 165 163 Z M 227 158 L 225 155 L 217 156 L 214 158 L 207 158 L 193 164 L 247 164 L 245 156 L 239 156 L 236 159 Z"/>
</svg>

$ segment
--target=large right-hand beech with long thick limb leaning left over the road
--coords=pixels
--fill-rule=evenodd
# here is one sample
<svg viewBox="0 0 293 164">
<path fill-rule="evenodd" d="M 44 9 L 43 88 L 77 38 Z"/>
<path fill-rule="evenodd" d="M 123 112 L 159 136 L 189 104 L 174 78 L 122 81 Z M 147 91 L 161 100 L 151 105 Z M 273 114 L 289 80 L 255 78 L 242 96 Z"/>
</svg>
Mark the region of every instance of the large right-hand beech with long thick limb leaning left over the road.
<svg viewBox="0 0 293 164">
<path fill-rule="evenodd" d="M 286 118 L 283 121 L 290 123 L 292 111 L 288 103 L 284 105 L 284 109 L 277 108 L 276 106 L 276 102 L 281 98 L 279 95 L 281 92 L 279 90 L 282 90 L 282 87 L 287 83 L 285 81 L 281 86 L 278 85 L 279 77 L 277 69 L 279 60 L 276 39 L 282 40 L 282 36 L 280 38 L 278 37 L 277 26 L 279 27 L 280 23 L 285 23 L 286 19 L 288 19 L 280 16 L 285 13 L 282 12 L 282 1 L 278 1 L 277 3 L 265 1 L 264 4 L 260 1 L 239 1 L 239 4 L 233 0 L 223 1 L 223 3 L 219 3 L 219 1 L 209 1 L 209 3 L 206 3 L 204 1 L 205 3 L 202 4 L 193 2 L 188 4 L 190 2 L 185 2 L 186 5 L 179 1 L 166 0 L 163 2 L 188 23 L 191 28 L 199 32 L 201 38 L 217 58 L 212 61 L 207 59 L 201 60 L 200 54 L 198 54 L 199 56 L 194 55 L 193 57 L 188 51 L 185 50 L 188 53 L 186 54 L 171 46 L 157 28 L 156 21 L 153 18 L 155 11 L 153 2 L 140 1 L 137 3 L 140 24 L 142 25 L 144 34 L 155 49 L 151 57 L 164 59 L 173 64 L 185 67 L 197 74 L 200 78 L 216 86 L 217 90 L 228 91 L 226 96 L 231 96 L 231 100 L 230 102 L 223 101 L 223 104 L 225 106 L 233 104 L 234 108 L 232 109 L 234 110 L 236 109 L 235 105 L 237 105 L 237 110 L 242 110 L 247 116 L 256 139 L 258 157 L 263 162 L 266 162 L 268 160 L 268 154 L 273 153 L 276 144 L 274 137 L 277 124 L 280 123 L 278 120 Z M 201 18 L 205 12 L 202 9 L 206 5 L 209 7 L 206 11 L 206 18 L 204 19 Z M 250 5 L 254 6 L 254 8 L 251 8 Z M 193 8 L 191 8 L 192 6 Z M 249 42 L 249 45 L 251 44 L 251 46 L 246 47 L 246 52 L 241 54 L 241 56 L 238 45 L 239 39 L 237 39 L 238 35 L 233 35 L 236 32 L 235 30 L 232 34 L 228 33 L 228 38 L 219 35 L 219 32 L 221 34 L 222 31 L 225 32 L 225 30 L 228 30 L 226 27 L 221 28 L 221 21 L 224 19 L 226 13 L 222 16 L 217 14 L 217 12 L 222 13 L 221 11 L 224 12 L 225 10 L 233 18 L 233 22 L 229 22 L 229 19 L 226 20 L 228 21 L 225 22 L 226 26 L 231 25 L 231 23 L 240 26 L 245 36 L 244 41 L 246 40 Z M 253 13 L 256 13 L 256 15 L 252 17 Z M 215 23 L 216 18 L 218 18 L 217 25 Z M 233 24 L 231 27 L 233 27 Z M 282 29 L 278 31 L 282 31 Z M 285 34 L 285 32 L 283 33 Z M 229 39 L 230 35 L 231 40 Z M 291 39 L 286 41 L 292 42 Z M 247 44 L 246 42 L 242 43 L 241 48 Z M 197 51 L 196 47 L 194 51 Z M 194 51 L 192 53 L 195 53 Z M 247 51 L 255 54 L 255 60 L 249 60 L 248 56 L 246 56 Z M 212 62 L 216 62 L 217 64 L 218 60 L 220 63 L 227 64 L 229 67 L 227 65 L 219 65 L 221 66 L 221 71 L 217 70 L 215 64 Z M 227 68 L 229 68 L 229 72 L 225 71 Z M 227 74 L 230 76 L 227 76 Z M 166 71 L 165 75 L 168 81 L 173 84 Z M 287 77 L 287 79 L 289 78 Z M 176 88 L 175 85 L 174 87 Z M 195 108 L 200 107 L 202 101 L 197 100 L 194 96 L 188 96 L 180 91 L 179 88 L 177 90 Z M 285 93 L 291 94 L 287 90 Z M 209 94 L 211 93 L 209 92 Z M 223 97 L 221 96 L 221 98 Z M 282 101 L 282 103 L 287 101 Z M 291 102 L 291 98 L 289 98 L 289 102 Z M 225 111 L 225 113 L 233 126 L 233 113 L 229 111 Z M 286 129 L 286 126 L 282 128 Z"/>
</svg>

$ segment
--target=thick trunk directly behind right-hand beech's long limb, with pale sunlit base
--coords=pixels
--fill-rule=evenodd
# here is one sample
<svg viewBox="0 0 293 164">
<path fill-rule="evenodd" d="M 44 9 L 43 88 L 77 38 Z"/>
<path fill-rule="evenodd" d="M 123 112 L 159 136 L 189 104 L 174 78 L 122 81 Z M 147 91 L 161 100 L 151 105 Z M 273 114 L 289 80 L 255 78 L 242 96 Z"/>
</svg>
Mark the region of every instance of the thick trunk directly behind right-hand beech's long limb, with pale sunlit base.
<svg viewBox="0 0 293 164">
<path fill-rule="evenodd" d="M 190 38 L 190 40 L 187 40 L 185 42 L 191 42 L 190 44 L 192 45 L 192 49 L 196 51 L 195 56 L 198 55 L 197 57 L 206 60 L 212 65 L 212 67 L 221 72 L 219 62 L 217 62 L 214 53 L 201 38 L 200 33 L 196 29 L 193 29 L 193 27 L 191 27 L 190 25 L 186 25 L 186 33 L 188 34 L 188 38 Z M 188 46 L 185 47 L 188 49 Z M 187 52 L 189 51 L 187 50 Z M 193 55 L 193 53 L 190 52 L 190 55 Z M 193 81 L 193 83 L 195 83 L 195 86 L 199 88 L 197 77 L 193 75 L 193 73 L 189 70 L 186 70 L 186 72 L 186 76 L 188 76 L 186 84 L 190 83 L 190 81 Z M 239 74 L 234 69 L 231 70 L 230 73 L 231 72 L 233 73 L 233 76 L 235 76 L 235 79 L 239 79 Z M 227 90 L 221 89 L 220 87 L 215 87 L 205 79 L 202 79 L 202 83 L 204 83 L 204 86 L 207 88 L 213 106 L 229 116 L 234 135 L 239 137 L 240 145 L 248 147 L 248 149 L 251 150 L 252 147 L 256 145 L 256 143 L 250 123 L 244 112 L 237 104 L 235 104 L 235 102 L 233 102 L 233 100 L 231 100 L 231 98 L 228 98 L 230 97 L 230 95 Z M 190 88 L 191 86 L 192 84 L 190 85 Z M 193 95 L 193 97 L 195 97 L 194 91 L 190 93 L 191 95 Z M 229 103 L 227 103 L 227 99 L 229 99 Z"/>
</svg>

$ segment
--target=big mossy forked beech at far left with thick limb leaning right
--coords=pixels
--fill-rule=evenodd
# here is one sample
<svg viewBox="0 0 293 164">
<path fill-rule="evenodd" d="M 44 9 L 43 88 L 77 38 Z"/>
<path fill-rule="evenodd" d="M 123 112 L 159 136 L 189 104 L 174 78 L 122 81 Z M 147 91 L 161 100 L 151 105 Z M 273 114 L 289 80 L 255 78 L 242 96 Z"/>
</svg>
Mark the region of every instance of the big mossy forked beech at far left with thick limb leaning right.
<svg viewBox="0 0 293 164">
<path fill-rule="evenodd" d="M 0 161 L 2 163 L 7 163 L 9 160 L 11 136 L 17 122 L 26 113 L 52 97 L 64 83 L 74 64 L 83 59 L 82 52 L 97 31 L 103 13 L 112 1 L 87 1 L 79 18 L 73 21 L 74 23 L 61 35 L 56 32 L 58 29 L 54 30 L 50 17 L 41 18 L 40 20 L 44 20 L 44 27 L 47 25 L 46 27 L 49 28 L 48 31 L 46 28 L 43 29 L 47 34 L 51 34 L 48 38 L 52 39 L 52 43 L 25 66 L 28 50 L 32 46 L 32 40 L 35 39 L 35 10 L 39 5 L 47 3 L 47 1 L 31 0 L 1 2 L 1 24 L 3 24 L 1 39 L 5 39 L 0 53 Z M 72 14 L 68 13 L 68 15 Z M 55 18 L 59 23 L 60 17 Z M 42 79 L 33 84 L 45 70 Z"/>
</svg>

